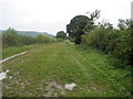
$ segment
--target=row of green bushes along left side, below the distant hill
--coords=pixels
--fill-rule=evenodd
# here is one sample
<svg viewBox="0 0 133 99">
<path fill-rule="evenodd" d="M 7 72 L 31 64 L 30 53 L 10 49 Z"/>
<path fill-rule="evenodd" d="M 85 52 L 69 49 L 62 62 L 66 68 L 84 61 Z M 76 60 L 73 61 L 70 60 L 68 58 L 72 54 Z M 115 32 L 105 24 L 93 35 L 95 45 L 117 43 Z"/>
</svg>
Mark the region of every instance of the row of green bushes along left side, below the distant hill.
<svg viewBox="0 0 133 99">
<path fill-rule="evenodd" d="M 45 35 L 37 35 L 35 37 L 19 35 L 14 29 L 9 28 L 2 33 L 2 47 L 8 46 L 22 46 L 30 44 L 48 44 L 60 42 L 60 38 L 50 38 Z"/>
</svg>

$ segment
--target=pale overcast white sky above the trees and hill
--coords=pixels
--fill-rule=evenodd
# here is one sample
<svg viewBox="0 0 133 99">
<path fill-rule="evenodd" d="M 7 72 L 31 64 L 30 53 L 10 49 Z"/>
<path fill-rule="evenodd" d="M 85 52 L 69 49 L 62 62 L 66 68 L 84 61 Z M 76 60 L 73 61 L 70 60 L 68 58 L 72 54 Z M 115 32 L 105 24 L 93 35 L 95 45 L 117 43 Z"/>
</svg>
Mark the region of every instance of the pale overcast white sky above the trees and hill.
<svg viewBox="0 0 133 99">
<path fill-rule="evenodd" d="M 0 29 L 48 32 L 55 35 L 65 32 L 66 24 L 75 15 L 101 10 L 98 21 L 116 25 L 119 19 L 131 18 L 133 0 L 0 0 Z"/>
</svg>

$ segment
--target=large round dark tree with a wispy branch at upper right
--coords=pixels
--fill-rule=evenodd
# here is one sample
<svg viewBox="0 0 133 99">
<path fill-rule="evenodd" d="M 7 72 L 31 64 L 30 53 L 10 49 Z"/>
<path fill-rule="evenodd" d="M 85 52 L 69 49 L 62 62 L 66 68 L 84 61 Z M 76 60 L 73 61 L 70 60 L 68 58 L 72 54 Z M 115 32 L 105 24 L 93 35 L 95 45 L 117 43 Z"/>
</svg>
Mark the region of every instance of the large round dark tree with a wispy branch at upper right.
<svg viewBox="0 0 133 99">
<path fill-rule="evenodd" d="M 70 24 L 66 25 L 66 32 L 69 33 L 69 36 L 74 38 L 75 44 L 81 43 L 81 35 L 93 30 L 93 28 L 95 26 L 94 21 L 99 19 L 100 11 L 95 10 L 89 15 L 90 16 L 76 15 L 71 20 Z"/>
</svg>

